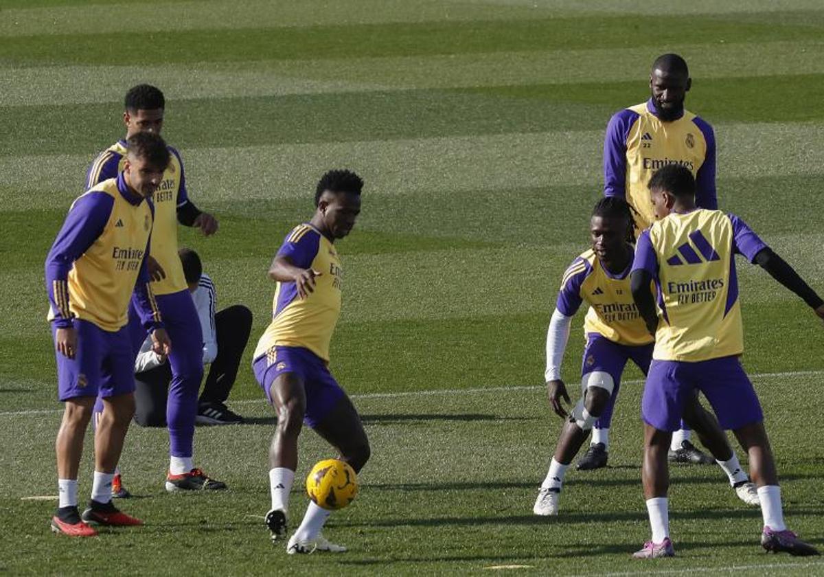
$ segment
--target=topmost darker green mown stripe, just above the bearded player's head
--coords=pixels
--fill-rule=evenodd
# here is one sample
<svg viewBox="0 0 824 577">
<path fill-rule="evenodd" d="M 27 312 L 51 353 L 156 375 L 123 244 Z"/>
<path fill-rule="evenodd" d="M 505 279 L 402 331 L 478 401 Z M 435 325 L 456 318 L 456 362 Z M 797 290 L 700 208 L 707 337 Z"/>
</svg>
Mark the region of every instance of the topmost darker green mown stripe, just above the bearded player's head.
<svg viewBox="0 0 824 577">
<path fill-rule="evenodd" d="M 512 21 L 426 22 L 183 30 L 174 34 L 147 31 L 141 35 L 133 64 L 199 61 L 349 59 L 368 56 L 480 54 L 536 49 L 631 48 L 660 45 L 648 30 L 667 30 L 669 45 L 817 40 L 822 12 L 808 12 L 806 21 L 792 12 L 789 23 L 780 13 L 737 16 L 580 16 Z M 30 35 L 0 38 L 2 65 L 120 64 L 121 33 Z"/>
</svg>

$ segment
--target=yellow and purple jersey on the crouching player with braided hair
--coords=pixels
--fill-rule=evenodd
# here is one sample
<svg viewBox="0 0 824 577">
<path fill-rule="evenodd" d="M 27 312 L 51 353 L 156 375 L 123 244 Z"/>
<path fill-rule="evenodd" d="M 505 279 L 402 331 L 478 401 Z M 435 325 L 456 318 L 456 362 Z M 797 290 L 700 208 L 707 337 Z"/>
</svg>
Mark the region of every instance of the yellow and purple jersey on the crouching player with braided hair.
<svg viewBox="0 0 824 577">
<path fill-rule="evenodd" d="M 595 251 L 578 256 L 564 273 L 555 307 L 572 317 L 584 301 L 589 305 L 583 321 L 584 333 L 598 333 L 619 345 L 653 342 L 632 299 L 630 266 L 620 274 L 612 274 L 603 267 Z"/>
</svg>

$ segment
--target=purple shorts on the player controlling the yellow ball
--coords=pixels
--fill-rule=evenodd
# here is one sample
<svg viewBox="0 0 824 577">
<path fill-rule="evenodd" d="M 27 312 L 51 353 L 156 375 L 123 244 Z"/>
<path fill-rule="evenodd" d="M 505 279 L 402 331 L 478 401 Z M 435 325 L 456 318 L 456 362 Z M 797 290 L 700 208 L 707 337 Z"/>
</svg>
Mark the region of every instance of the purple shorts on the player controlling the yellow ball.
<svg viewBox="0 0 824 577">
<path fill-rule="evenodd" d="M 269 405 L 272 404 L 269 388 L 272 387 L 274 379 L 283 373 L 297 374 L 303 381 L 303 390 L 307 396 L 303 422 L 314 428 L 346 393 L 329 372 L 325 361 L 311 350 L 278 346 L 274 348 L 274 352 L 274 359 L 264 354 L 252 362 L 255 378 L 266 393 L 266 400 L 269 401 Z"/>
</svg>

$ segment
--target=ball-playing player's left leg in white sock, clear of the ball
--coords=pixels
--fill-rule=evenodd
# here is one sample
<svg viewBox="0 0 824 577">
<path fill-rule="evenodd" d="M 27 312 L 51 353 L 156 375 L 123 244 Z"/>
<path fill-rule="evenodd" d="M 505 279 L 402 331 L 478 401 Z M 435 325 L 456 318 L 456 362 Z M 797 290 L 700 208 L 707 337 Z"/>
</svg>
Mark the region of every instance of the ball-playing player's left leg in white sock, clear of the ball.
<svg viewBox="0 0 824 577">
<path fill-rule="evenodd" d="M 297 438 L 303 427 L 307 399 L 303 381 L 296 373 L 282 373 L 269 386 L 269 398 L 278 415 L 269 445 L 269 483 L 272 508 L 266 526 L 272 540 L 286 536 L 289 491 L 297 469 Z"/>
</svg>

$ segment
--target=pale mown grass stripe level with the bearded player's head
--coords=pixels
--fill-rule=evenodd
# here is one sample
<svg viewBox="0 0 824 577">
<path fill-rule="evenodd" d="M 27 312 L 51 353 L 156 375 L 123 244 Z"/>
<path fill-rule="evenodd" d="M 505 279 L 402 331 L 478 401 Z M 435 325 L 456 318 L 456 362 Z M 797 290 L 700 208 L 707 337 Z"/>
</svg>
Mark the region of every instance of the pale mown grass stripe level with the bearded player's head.
<svg viewBox="0 0 824 577">
<path fill-rule="evenodd" d="M 824 73 L 824 45 L 815 41 L 681 45 L 696 82 L 691 98 L 709 79 L 784 77 Z M 117 103 L 138 79 L 162 87 L 171 101 L 206 98 L 312 95 L 335 92 L 431 88 L 527 87 L 630 82 L 639 90 L 654 55 L 630 49 L 545 50 L 447 56 L 178 63 L 147 66 L 0 68 L 2 106 Z M 735 81 L 733 81 L 735 82 Z M 765 82 L 772 82 L 766 78 Z M 716 82 L 721 84 L 721 82 Z M 591 91 L 591 87 L 588 87 Z M 761 98 L 762 96 L 759 95 Z M 723 99 L 722 99 L 723 100 Z M 609 101 L 614 105 L 614 101 Z M 193 103 L 194 104 L 194 103 Z M 733 103 L 729 103 L 730 106 Z M 740 108 L 740 107 L 739 107 Z M 746 108 L 746 107 L 745 107 Z M 783 112 L 782 114 L 787 114 Z"/>
</svg>

